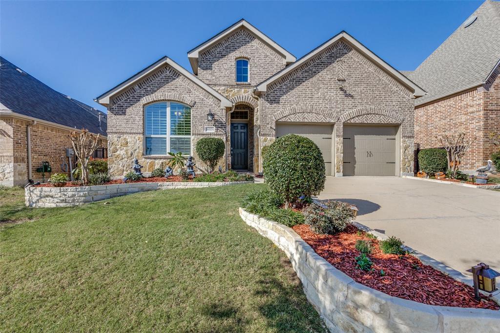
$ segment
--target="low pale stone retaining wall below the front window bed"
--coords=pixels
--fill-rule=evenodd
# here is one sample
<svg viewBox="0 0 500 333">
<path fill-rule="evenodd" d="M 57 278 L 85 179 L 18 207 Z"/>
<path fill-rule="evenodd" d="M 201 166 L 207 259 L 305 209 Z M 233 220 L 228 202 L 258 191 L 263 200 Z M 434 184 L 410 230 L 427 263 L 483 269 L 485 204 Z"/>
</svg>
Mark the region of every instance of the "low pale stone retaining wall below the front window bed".
<svg viewBox="0 0 500 333">
<path fill-rule="evenodd" d="M 131 182 L 124 184 L 75 186 L 75 187 L 36 187 L 28 186 L 24 190 L 27 207 L 69 207 L 93 201 L 105 200 L 114 196 L 157 189 L 215 187 L 233 184 L 252 183 L 252 181 L 227 182 Z"/>
</svg>

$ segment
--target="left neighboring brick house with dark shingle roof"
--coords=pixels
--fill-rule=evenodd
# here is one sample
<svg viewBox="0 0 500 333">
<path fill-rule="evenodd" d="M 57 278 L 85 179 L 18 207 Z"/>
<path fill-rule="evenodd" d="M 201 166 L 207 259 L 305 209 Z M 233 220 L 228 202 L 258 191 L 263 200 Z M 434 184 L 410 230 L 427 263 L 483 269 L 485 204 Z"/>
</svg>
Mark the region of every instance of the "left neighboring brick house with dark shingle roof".
<svg viewBox="0 0 500 333">
<path fill-rule="evenodd" d="M 48 161 L 52 172 L 68 163 L 71 130 L 87 128 L 100 134 L 95 156 L 105 156 L 106 115 L 63 95 L 0 57 L 0 184 L 25 185 L 41 181 L 36 172 Z M 28 141 L 29 136 L 29 141 Z M 29 143 L 29 144 L 28 144 Z M 45 175 L 48 179 L 50 173 Z"/>
</svg>

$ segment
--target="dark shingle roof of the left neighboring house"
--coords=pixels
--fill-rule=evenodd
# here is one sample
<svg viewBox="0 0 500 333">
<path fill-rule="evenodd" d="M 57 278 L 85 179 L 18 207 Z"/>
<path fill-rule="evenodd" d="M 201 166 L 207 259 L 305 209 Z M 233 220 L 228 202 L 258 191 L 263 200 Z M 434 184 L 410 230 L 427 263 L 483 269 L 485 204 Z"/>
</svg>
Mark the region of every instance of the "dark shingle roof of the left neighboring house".
<svg viewBox="0 0 500 333">
<path fill-rule="evenodd" d="M 0 102 L 15 113 L 106 135 L 103 112 L 55 91 L 3 57 L 0 57 Z"/>
</svg>

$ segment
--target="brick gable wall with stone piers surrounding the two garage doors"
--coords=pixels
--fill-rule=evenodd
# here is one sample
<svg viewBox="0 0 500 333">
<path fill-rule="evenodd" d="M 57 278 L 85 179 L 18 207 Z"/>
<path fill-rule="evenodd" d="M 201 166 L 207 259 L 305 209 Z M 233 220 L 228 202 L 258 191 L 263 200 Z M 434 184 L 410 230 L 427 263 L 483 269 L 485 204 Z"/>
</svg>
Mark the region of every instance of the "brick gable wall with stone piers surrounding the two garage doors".
<svg viewBox="0 0 500 333">
<path fill-rule="evenodd" d="M 337 81 L 340 70 L 343 82 Z M 311 114 L 335 123 L 335 174 L 341 175 L 344 123 L 400 124 L 401 151 L 413 151 L 413 101 L 408 89 L 338 41 L 267 87 L 261 135 L 275 136 L 276 121 L 307 122 Z M 412 160 L 401 154 L 402 172 L 413 171 Z"/>
</svg>

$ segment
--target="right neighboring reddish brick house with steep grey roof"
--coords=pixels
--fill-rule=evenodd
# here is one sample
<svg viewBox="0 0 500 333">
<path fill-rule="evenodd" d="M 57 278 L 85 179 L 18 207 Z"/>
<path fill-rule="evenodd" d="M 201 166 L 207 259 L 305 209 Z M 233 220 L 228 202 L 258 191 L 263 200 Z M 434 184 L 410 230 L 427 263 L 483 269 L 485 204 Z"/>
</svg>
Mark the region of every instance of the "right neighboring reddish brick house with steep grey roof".
<svg viewBox="0 0 500 333">
<path fill-rule="evenodd" d="M 476 137 L 460 168 L 474 171 L 500 149 L 500 2 L 484 1 L 414 71 L 401 71 L 428 93 L 415 101 L 415 143 L 439 147 L 435 136 Z"/>
</svg>

